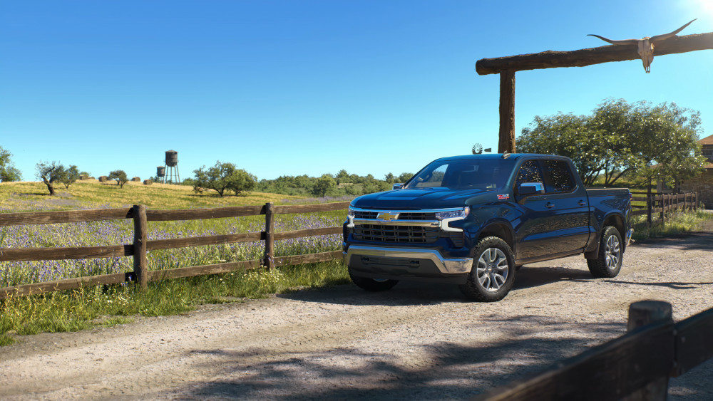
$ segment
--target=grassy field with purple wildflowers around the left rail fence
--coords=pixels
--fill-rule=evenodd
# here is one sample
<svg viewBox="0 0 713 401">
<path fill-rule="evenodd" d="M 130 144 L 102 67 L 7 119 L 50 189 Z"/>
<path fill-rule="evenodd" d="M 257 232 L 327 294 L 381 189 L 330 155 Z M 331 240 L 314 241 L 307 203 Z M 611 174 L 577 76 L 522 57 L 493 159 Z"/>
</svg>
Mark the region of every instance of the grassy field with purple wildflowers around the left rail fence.
<svg viewBox="0 0 713 401">
<path fill-rule="evenodd" d="M 137 182 L 119 188 L 116 183 L 77 182 L 68 189 L 58 189 L 50 197 L 39 182 L 0 184 L 1 212 L 36 212 L 49 210 L 96 209 L 145 204 L 151 209 L 189 209 L 265 204 L 294 204 L 299 197 L 248 192 L 239 197 L 219 197 L 215 193 L 195 194 L 179 185 L 143 185 Z M 304 199 L 307 202 L 326 199 Z M 344 200 L 344 199 L 339 199 Z M 305 202 L 305 203 L 307 203 Z M 346 211 L 312 214 L 280 214 L 277 231 L 339 226 Z M 149 239 L 207 236 L 262 231 L 265 217 L 150 222 Z M 39 224 L 0 228 L 0 248 L 43 246 L 101 246 L 130 244 L 133 222 L 84 222 Z M 309 254 L 340 249 L 340 235 L 312 236 L 275 242 L 275 256 Z M 149 269 L 171 269 L 215 264 L 225 261 L 261 259 L 263 241 L 220 246 L 165 249 L 148 254 Z M 130 257 L 78 261 L 0 262 L 0 287 L 51 281 L 61 278 L 112 274 L 133 270 Z M 230 274 L 184 278 L 150 283 L 147 291 L 137 291 L 133 284 L 93 286 L 73 291 L 59 291 L 38 296 L 0 301 L 0 345 L 14 342 L 16 335 L 40 332 L 81 330 L 130 321 L 130 316 L 158 316 L 183 313 L 200 303 L 223 303 L 260 298 L 271 293 L 296 288 L 325 286 L 349 281 L 339 261 L 287 266 L 270 272 L 236 271 Z"/>
</svg>

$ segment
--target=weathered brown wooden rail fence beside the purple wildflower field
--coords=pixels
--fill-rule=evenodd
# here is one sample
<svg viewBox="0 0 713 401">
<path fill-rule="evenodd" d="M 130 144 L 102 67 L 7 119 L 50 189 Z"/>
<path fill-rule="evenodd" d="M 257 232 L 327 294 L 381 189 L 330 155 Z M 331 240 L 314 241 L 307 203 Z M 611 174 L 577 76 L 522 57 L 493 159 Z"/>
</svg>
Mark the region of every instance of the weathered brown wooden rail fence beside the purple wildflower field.
<svg viewBox="0 0 713 401">
<path fill-rule="evenodd" d="M 110 246 L 81 246 L 63 248 L 0 248 L 0 261 L 40 261 L 64 259 L 98 259 L 118 256 L 133 256 L 133 271 L 118 274 L 103 274 L 66 278 L 57 281 L 25 284 L 0 288 L 0 299 L 9 296 L 26 296 L 50 291 L 68 290 L 81 286 L 96 284 L 116 284 L 136 281 L 145 288 L 148 281 L 158 281 L 165 278 L 202 276 L 205 274 L 226 273 L 235 270 L 256 269 L 265 266 L 271 269 L 275 266 L 314 263 L 330 261 L 342 257 L 342 251 L 320 252 L 318 254 L 303 254 L 294 256 L 274 256 L 275 241 L 281 239 L 299 238 L 327 234 L 342 234 L 342 226 L 320 229 L 302 229 L 294 231 L 275 232 L 275 214 L 312 213 L 344 210 L 349 202 L 327 204 L 274 205 L 264 206 L 219 207 L 212 209 L 177 209 L 150 210 L 143 205 L 134 205 L 127 209 L 95 209 L 68 212 L 29 212 L 0 214 L 0 226 L 18 226 L 29 224 L 51 224 L 72 222 L 96 222 L 101 220 L 133 219 L 133 244 Z M 265 215 L 265 231 L 243 234 L 223 234 L 213 236 L 190 236 L 177 239 L 148 240 L 148 222 L 165 222 L 193 219 L 219 219 L 225 217 L 242 217 Z M 148 270 L 146 253 L 158 249 L 185 248 L 189 246 L 205 246 L 218 244 L 235 244 L 265 240 L 265 256 L 262 259 L 249 261 L 234 261 L 222 264 L 191 266 L 178 269 Z"/>
</svg>

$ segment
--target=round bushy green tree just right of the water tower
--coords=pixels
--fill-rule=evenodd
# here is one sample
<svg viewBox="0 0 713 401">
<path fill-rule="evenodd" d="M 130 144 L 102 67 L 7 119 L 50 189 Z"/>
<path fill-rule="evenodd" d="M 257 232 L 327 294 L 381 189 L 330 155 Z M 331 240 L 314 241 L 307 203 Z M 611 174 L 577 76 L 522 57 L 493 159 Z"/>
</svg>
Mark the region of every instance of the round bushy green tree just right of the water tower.
<svg viewBox="0 0 713 401">
<path fill-rule="evenodd" d="M 193 174 L 195 174 L 193 189 L 196 192 L 201 192 L 202 189 L 215 189 L 221 197 L 226 190 L 234 191 L 235 196 L 240 192 L 250 191 L 257 182 L 257 177 L 249 172 L 238 169 L 232 163 L 221 163 L 220 160 L 207 170 L 205 166 L 193 170 Z"/>
</svg>

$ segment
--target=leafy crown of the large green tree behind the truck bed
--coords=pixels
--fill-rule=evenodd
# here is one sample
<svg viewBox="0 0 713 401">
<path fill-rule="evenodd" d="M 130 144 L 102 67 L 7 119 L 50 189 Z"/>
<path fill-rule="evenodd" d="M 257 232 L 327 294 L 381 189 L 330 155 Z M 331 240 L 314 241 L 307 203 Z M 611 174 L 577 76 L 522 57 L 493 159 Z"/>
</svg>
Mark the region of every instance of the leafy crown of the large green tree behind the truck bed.
<svg viewBox="0 0 713 401">
<path fill-rule="evenodd" d="M 674 103 L 606 100 L 593 115 L 535 116 L 518 138 L 518 152 L 570 157 L 585 185 L 612 186 L 625 175 L 689 178 L 702 171 L 699 113 Z M 658 165 L 657 167 L 654 167 Z"/>
</svg>

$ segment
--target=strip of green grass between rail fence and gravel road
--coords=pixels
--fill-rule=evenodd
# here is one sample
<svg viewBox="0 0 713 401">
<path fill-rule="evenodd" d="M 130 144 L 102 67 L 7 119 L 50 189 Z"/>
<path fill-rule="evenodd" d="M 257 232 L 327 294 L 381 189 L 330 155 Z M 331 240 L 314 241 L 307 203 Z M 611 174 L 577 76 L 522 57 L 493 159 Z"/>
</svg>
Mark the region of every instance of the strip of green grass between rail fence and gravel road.
<svg viewBox="0 0 713 401">
<path fill-rule="evenodd" d="M 131 316 L 167 316 L 200 304 L 242 302 L 305 288 L 349 283 L 341 261 L 235 271 L 149 283 L 93 286 L 0 300 L 0 346 L 17 335 L 84 330 L 129 323 Z"/>
</svg>

